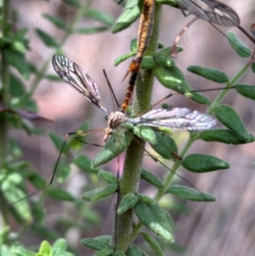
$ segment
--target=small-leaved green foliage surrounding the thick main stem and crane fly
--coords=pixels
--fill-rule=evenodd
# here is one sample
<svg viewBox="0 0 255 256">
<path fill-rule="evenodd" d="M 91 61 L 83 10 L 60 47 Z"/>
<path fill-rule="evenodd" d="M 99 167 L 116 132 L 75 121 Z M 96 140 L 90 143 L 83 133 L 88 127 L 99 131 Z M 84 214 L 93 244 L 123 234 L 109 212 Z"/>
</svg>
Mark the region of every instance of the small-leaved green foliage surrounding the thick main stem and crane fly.
<svg viewBox="0 0 255 256">
<path fill-rule="evenodd" d="M 47 48 L 52 50 L 52 54 L 50 55 L 62 53 L 62 47 L 66 39 L 72 35 L 80 34 L 80 37 L 82 37 L 84 34 L 98 33 L 109 29 L 113 33 L 126 29 L 135 20 L 139 19 L 143 4 L 141 0 L 126 1 L 122 14 L 114 21 L 109 14 L 97 9 L 90 9 L 89 5 L 82 3 L 82 1 L 63 0 L 62 2 L 69 5 L 69 8 L 77 13 L 76 17 L 73 18 L 74 20 L 66 22 L 56 15 L 42 15 L 46 22 L 50 22 L 51 25 L 63 33 L 61 38 L 54 37 L 52 33 L 42 30 L 42 28 L 34 28 L 37 37 L 40 38 Z M 176 7 L 176 3 L 172 0 L 157 0 L 156 3 Z M 100 25 L 81 28 L 79 22 L 82 17 L 99 22 Z M 33 93 L 42 79 L 59 82 L 59 78 L 48 74 L 50 58 L 45 60 L 42 68 L 37 68 L 36 63 L 30 63 L 26 60 L 26 53 L 30 49 L 30 41 L 26 37 L 28 29 L 23 28 L 19 31 L 12 31 L 9 26 L 12 22 L 11 20 L 8 18 L 7 25 L 3 28 L 3 37 L 0 40 L 0 47 L 3 52 L 3 67 L 1 69 L 3 84 L 8 84 L 6 88 L 0 91 L 0 133 L 2 134 L 2 138 L 8 138 L 8 129 L 6 128 L 16 128 L 20 129 L 20 131 L 25 131 L 26 134 L 41 136 L 44 133 L 34 127 L 33 121 L 40 120 L 48 122 L 48 120 L 37 115 L 37 102 L 34 100 Z M 251 54 L 251 49 L 247 48 L 233 32 L 229 32 L 228 36 L 231 40 L 229 44 L 235 50 L 236 54 L 243 58 L 248 58 L 249 54 Z M 73 228 L 84 231 L 93 228 L 94 225 L 99 223 L 97 212 L 90 208 L 91 204 L 88 207 L 88 204 L 86 205 L 83 201 L 99 202 L 105 199 L 105 197 L 112 196 L 116 193 L 118 193 L 119 201 L 116 203 L 115 220 L 125 218 L 123 217 L 126 216 L 125 214 L 132 216 L 133 212 L 139 219 L 137 223 L 133 222 L 132 232 L 130 237 L 128 237 L 130 244 L 127 242 L 126 254 L 119 249 L 118 244 L 114 244 L 115 235 L 85 238 L 81 241 L 82 245 L 96 250 L 97 253 L 95 255 L 101 256 L 146 255 L 141 247 L 132 244 L 133 240 L 140 234 L 156 255 L 164 255 L 161 241 L 167 243 L 174 241 L 174 225 L 171 215 L 161 207 L 160 200 L 162 196 L 170 194 L 173 197 L 177 196 L 185 201 L 195 202 L 216 201 L 214 196 L 198 191 L 194 187 L 173 184 L 173 176 L 179 166 L 197 174 L 229 168 L 228 162 L 215 156 L 198 153 L 186 155 L 190 146 L 198 139 L 207 142 L 218 141 L 229 145 L 242 145 L 255 140 L 254 135 L 247 131 L 245 123 L 241 120 L 241 117 L 234 108 L 229 105 L 221 105 L 221 99 L 230 88 L 235 88 L 235 91 L 246 99 L 255 100 L 254 86 L 236 82 L 238 78 L 245 75 L 248 67 L 246 67 L 246 70 L 237 71 L 236 73 L 238 75 L 230 78 L 223 71 L 199 65 L 190 65 L 188 71 L 193 74 L 213 82 L 226 83 L 225 88 L 228 90 L 219 92 L 218 98 L 211 101 L 206 95 L 195 92 L 190 87 L 183 72 L 178 68 L 173 57 L 169 54 L 171 47 L 164 47 L 162 43 L 157 43 L 156 45 L 156 53 L 151 54 L 148 52 L 148 55 L 144 57 L 141 63 L 143 76 L 146 77 L 152 72 L 163 87 L 176 92 L 173 94 L 184 94 L 184 96 L 189 97 L 196 103 L 207 105 L 208 113 L 214 113 L 218 121 L 226 128 L 218 128 L 201 133 L 194 132 L 190 134 L 184 151 L 180 151 L 175 140 L 170 137 L 169 131 L 163 131 L 161 128 L 152 129 L 145 125 L 127 125 L 121 128 L 118 133 L 111 135 L 111 138 L 102 150 L 99 151 L 99 154 L 94 157 L 93 161 L 88 156 L 74 155 L 75 152 L 82 149 L 82 142 L 83 144 L 86 143 L 85 136 L 83 135 L 86 134 L 84 130 L 88 129 L 87 123 L 82 124 L 80 128 L 82 132 L 78 138 L 62 139 L 58 134 L 51 132 L 49 133 L 49 138 L 56 150 L 61 153 L 61 157 L 56 167 L 54 167 L 55 179 L 50 180 L 52 183 L 50 185 L 42 178 L 41 174 L 37 174 L 37 170 L 32 167 L 30 162 L 20 160 L 22 151 L 14 141 L 10 139 L 1 141 L 3 156 L 1 156 L 0 199 L 3 204 L 1 203 L 0 207 L 3 212 L 8 211 L 12 215 L 12 218 L 20 225 L 20 230 L 22 231 L 20 232 L 18 230 L 14 236 L 10 226 L 8 226 L 8 219 L 5 217 L 6 214 L 3 213 L 3 219 L 7 225 L 0 230 L 1 255 L 75 255 L 69 252 L 68 242 L 59 237 L 65 236 L 65 232 Z M 178 47 L 177 53 L 182 50 L 183 48 Z M 130 52 L 117 58 L 114 65 L 120 65 L 123 61 L 133 57 L 136 51 L 137 39 L 133 39 L 130 43 Z M 8 71 L 9 66 L 14 67 L 15 72 Z M 254 66 L 254 64 L 251 65 L 253 72 L 255 70 Z M 33 81 L 31 81 L 31 74 L 32 77 L 35 77 Z M 8 78 L 4 80 L 4 77 Z M 6 94 L 8 94 L 8 97 Z M 133 189 L 133 184 L 129 184 L 128 180 L 125 181 L 125 175 L 123 175 L 122 179 L 118 180 L 118 175 L 99 169 L 100 165 L 110 162 L 123 151 L 128 151 L 128 146 L 133 140 L 133 134 L 138 139 L 149 142 L 151 148 L 158 154 L 158 156 L 153 156 L 153 160 L 155 162 L 161 162 L 166 167 L 166 174 L 163 179 L 154 174 L 153 170 L 148 171 L 140 168 L 138 178 L 144 179 L 156 190 L 156 195 L 153 198 L 140 194 L 135 186 Z M 139 144 L 137 146 L 140 147 Z M 4 147 L 8 148 L 8 151 L 5 151 Z M 163 160 L 160 160 L 160 157 Z M 173 168 L 167 168 L 164 164 L 165 160 L 175 160 L 176 162 L 173 164 Z M 133 156 L 132 161 L 136 161 L 135 156 Z M 86 192 L 81 196 L 83 201 L 77 199 L 76 196 L 66 191 L 65 188 L 54 186 L 54 183 L 63 183 L 70 177 L 72 164 L 81 169 L 89 179 L 88 184 L 84 186 Z M 103 185 L 105 182 L 107 185 Z M 26 197 L 29 193 L 27 185 L 32 186 L 35 190 L 42 190 L 37 200 L 30 202 L 31 198 Z M 133 189 L 132 192 L 128 191 L 130 187 Z M 62 228 L 61 233 L 53 228 L 48 228 L 46 225 L 47 212 L 44 210 L 44 201 L 46 198 L 55 199 L 57 202 L 68 202 L 77 211 L 77 215 L 69 213 L 70 216 L 68 218 L 59 217 L 58 224 Z M 151 234 L 141 231 L 142 227 L 150 230 Z M 128 227 L 122 226 L 123 230 L 126 228 Z M 37 252 L 30 251 L 26 247 L 21 246 L 20 243 L 16 245 L 16 242 L 17 244 L 20 242 L 20 234 L 24 230 L 31 230 L 34 234 L 42 236 L 43 239 L 55 240 L 55 242 L 51 246 L 48 242 L 43 241 L 41 246 L 37 248 Z M 118 230 L 115 231 L 116 233 L 118 232 Z M 158 239 L 155 238 L 155 235 L 158 236 Z M 9 244 L 12 245 L 9 246 Z"/>
</svg>

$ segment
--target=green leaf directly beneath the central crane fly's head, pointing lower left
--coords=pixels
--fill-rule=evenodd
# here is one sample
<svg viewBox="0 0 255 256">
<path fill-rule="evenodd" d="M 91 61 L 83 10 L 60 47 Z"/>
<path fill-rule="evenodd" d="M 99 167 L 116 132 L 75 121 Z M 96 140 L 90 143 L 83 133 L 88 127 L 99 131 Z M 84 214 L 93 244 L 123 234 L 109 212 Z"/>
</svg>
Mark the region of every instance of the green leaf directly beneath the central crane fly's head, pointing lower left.
<svg viewBox="0 0 255 256">
<path fill-rule="evenodd" d="M 120 131 L 112 134 L 103 149 L 95 156 L 91 167 L 96 168 L 106 162 L 110 162 L 116 156 L 119 156 L 122 151 L 126 150 L 127 145 L 130 144 L 132 139 L 133 136 L 128 132 Z"/>
</svg>

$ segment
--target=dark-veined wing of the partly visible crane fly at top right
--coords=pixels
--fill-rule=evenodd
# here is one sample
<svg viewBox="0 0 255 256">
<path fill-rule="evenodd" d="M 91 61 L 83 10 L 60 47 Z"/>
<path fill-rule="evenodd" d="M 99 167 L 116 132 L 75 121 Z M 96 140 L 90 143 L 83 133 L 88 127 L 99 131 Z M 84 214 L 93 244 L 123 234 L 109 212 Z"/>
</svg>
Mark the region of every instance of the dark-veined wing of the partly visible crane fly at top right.
<svg viewBox="0 0 255 256">
<path fill-rule="evenodd" d="M 240 19 L 228 5 L 216 0 L 178 0 L 181 9 L 195 17 L 220 26 L 239 26 Z"/>
</svg>

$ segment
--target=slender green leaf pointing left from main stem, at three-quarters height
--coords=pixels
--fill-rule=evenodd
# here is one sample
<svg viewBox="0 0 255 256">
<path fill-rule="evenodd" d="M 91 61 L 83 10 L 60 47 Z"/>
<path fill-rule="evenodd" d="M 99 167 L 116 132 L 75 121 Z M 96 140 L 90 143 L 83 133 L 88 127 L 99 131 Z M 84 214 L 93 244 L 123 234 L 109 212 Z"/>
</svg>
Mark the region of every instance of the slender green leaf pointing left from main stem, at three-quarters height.
<svg viewBox="0 0 255 256">
<path fill-rule="evenodd" d="M 117 184 L 108 185 L 103 189 L 87 191 L 82 194 L 82 199 L 88 202 L 97 202 L 100 199 L 110 196 L 118 190 Z"/>
</svg>

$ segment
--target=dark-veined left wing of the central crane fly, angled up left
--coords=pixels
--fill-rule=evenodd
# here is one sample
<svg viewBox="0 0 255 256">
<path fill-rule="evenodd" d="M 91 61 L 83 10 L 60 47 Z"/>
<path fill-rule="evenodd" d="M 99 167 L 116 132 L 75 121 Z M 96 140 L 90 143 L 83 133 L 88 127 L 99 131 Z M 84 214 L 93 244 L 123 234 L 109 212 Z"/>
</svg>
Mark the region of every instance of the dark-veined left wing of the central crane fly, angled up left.
<svg viewBox="0 0 255 256">
<path fill-rule="evenodd" d="M 59 77 L 71 85 L 72 88 L 75 88 L 90 102 L 107 113 L 107 110 L 102 105 L 96 83 L 83 71 L 82 67 L 61 55 L 53 56 L 52 65 Z"/>
</svg>

